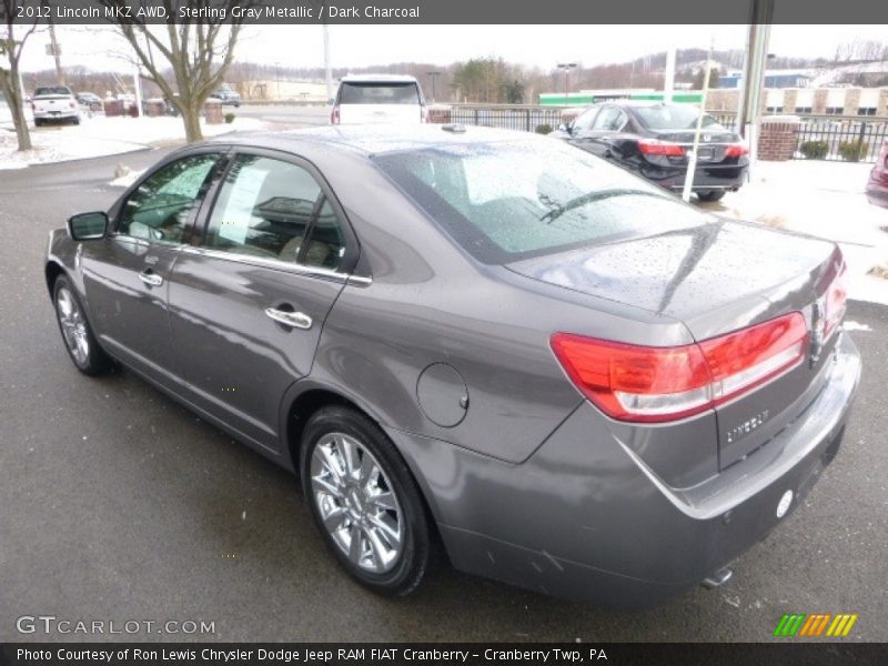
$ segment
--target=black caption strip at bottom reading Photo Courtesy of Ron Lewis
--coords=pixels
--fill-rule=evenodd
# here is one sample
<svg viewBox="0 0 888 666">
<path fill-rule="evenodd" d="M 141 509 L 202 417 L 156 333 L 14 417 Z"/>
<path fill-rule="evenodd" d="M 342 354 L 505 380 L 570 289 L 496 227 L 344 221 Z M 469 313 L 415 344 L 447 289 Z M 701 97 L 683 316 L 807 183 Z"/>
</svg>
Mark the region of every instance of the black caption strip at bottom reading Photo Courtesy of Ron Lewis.
<svg viewBox="0 0 888 666">
<path fill-rule="evenodd" d="M 613 664 L 835 666 L 888 664 L 872 643 L 6 643 L 2 666 L 293 666 Z"/>
</svg>

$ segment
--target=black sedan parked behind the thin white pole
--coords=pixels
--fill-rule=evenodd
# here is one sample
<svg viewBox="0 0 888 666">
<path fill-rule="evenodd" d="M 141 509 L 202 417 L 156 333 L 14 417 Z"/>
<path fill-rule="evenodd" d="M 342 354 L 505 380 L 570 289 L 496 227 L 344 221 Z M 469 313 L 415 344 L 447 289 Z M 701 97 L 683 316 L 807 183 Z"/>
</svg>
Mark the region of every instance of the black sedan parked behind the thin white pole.
<svg viewBox="0 0 888 666">
<path fill-rule="evenodd" d="M 619 100 L 589 107 L 551 135 L 678 191 L 685 185 L 698 113 L 692 104 Z M 718 201 L 737 191 L 746 182 L 748 152 L 736 133 L 704 114 L 694 193 L 702 201 Z"/>
</svg>

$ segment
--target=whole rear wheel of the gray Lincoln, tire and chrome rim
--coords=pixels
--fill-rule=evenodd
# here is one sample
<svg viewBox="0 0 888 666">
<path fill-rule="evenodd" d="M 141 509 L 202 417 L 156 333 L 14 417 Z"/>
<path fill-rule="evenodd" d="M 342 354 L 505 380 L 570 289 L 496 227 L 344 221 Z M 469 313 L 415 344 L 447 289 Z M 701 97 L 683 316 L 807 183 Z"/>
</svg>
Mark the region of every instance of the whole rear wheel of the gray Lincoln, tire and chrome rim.
<svg viewBox="0 0 888 666">
<path fill-rule="evenodd" d="M 349 574 L 380 594 L 415 589 L 428 567 L 428 518 L 385 433 L 354 410 L 324 407 L 305 424 L 300 468 L 312 517 Z"/>
</svg>

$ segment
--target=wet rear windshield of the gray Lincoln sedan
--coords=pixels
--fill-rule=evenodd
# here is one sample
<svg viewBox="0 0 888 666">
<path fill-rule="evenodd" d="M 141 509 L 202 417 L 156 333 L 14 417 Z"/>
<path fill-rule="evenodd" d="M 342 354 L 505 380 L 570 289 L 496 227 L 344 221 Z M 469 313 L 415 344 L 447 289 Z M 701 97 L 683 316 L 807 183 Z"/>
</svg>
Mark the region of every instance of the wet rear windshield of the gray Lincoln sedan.
<svg viewBox="0 0 888 666">
<path fill-rule="evenodd" d="M 374 160 L 448 235 L 488 264 L 712 220 L 559 141 L 447 145 Z"/>
</svg>

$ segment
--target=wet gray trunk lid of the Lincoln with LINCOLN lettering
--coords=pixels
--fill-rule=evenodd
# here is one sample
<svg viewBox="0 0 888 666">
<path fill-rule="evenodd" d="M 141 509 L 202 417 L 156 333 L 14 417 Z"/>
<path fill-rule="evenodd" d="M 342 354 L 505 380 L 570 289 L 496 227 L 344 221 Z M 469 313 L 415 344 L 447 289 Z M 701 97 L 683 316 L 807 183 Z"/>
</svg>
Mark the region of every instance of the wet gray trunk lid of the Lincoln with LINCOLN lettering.
<svg viewBox="0 0 888 666">
<path fill-rule="evenodd" d="M 821 371 L 837 336 L 819 340 L 817 332 L 841 263 L 833 243 L 799 234 L 780 239 L 757 225 L 718 221 L 526 259 L 507 268 L 678 319 L 697 342 L 801 312 L 809 331 L 815 330 L 809 332 L 813 344 L 806 359 L 715 407 L 719 466 L 725 468 L 791 423 L 824 381 Z"/>
</svg>

